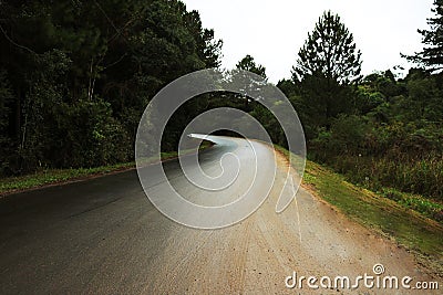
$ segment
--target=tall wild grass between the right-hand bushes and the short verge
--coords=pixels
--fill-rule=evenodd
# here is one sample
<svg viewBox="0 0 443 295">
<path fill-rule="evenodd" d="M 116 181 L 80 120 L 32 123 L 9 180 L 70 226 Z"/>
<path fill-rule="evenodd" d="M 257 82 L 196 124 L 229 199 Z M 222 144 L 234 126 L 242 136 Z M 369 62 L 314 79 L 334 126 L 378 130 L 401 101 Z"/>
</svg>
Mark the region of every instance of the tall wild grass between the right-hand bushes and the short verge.
<svg viewBox="0 0 443 295">
<path fill-rule="evenodd" d="M 328 167 L 358 187 L 394 200 L 443 224 L 443 160 L 322 155 Z"/>
</svg>

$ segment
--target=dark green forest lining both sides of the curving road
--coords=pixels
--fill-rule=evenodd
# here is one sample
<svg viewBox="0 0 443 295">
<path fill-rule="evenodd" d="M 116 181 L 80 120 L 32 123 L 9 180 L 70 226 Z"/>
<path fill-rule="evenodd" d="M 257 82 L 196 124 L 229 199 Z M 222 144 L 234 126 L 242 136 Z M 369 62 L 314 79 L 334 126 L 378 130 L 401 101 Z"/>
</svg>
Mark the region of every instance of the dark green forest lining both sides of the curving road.
<svg viewBox="0 0 443 295">
<path fill-rule="evenodd" d="M 413 64 L 404 77 L 361 75 L 352 33 L 326 11 L 277 86 L 300 117 L 309 159 L 443 221 L 443 0 L 432 11 L 418 28 L 423 50 L 403 55 Z M 179 0 L 7 0 L 0 14 L 2 177 L 132 161 L 150 99 L 186 73 L 220 67 L 223 41 Z M 266 78 L 250 55 L 237 69 Z M 251 114 L 285 146 L 258 102 L 206 99 L 177 112 L 165 150 L 195 115 L 220 105 Z"/>
</svg>

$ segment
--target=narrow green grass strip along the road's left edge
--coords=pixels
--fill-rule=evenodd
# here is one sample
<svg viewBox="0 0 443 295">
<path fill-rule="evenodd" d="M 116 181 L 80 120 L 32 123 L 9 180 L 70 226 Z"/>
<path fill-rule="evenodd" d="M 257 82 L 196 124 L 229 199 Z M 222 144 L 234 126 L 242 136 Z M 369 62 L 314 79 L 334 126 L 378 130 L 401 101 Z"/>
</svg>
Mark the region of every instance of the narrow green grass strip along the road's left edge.
<svg viewBox="0 0 443 295">
<path fill-rule="evenodd" d="M 200 149 L 210 147 L 212 144 L 204 143 Z M 184 152 L 187 154 L 186 151 Z M 162 152 L 162 160 L 176 158 L 177 151 Z M 146 160 L 150 162 L 150 159 Z M 151 162 L 154 162 L 151 160 Z M 41 188 L 49 185 L 64 183 L 69 181 L 82 180 L 91 177 L 103 176 L 116 171 L 135 168 L 135 162 L 124 162 L 95 168 L 78 168 L 78 169 L 44 169 L 32 175 L 20 177 L 8 177 L 0 179 L 0 196 L 12 192 L 24 191 L 29 189 Z"/>
</svg>

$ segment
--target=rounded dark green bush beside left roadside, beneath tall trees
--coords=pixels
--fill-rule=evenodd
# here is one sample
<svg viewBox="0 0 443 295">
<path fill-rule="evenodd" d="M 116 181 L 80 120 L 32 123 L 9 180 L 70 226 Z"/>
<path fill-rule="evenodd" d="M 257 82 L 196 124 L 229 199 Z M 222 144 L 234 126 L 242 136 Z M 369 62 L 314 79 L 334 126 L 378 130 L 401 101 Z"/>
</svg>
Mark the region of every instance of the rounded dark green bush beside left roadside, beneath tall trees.
<svg viewBox="0 0 443 295">
<path fill-rule="evenodd" d="M 56 109 L 58 138 L 48 152 L 56 150 L 55 167 L 96 167 L 126 161 L 132 144 L 122 125 L 112 117 L 111 105 L 103 99 L 82 99 Z"/>
</svg>

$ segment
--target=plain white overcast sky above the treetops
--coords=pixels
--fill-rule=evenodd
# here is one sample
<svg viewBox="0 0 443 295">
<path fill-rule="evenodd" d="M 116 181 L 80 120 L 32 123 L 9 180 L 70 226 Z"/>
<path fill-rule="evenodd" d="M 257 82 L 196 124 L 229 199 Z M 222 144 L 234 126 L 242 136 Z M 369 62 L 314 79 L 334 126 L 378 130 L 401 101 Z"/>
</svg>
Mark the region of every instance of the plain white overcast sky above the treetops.
<svg viewBox="0 0 443 295">
<path fill-rule="evenodd" d="M 341 17 L 362 51 L 362 72 L 409 67 L 400 52 L 421 51 L 418 29 L 429 29 L 433 0 L 183 0 L 203 25 L 223 39 L 223 67 L 246 54 L 267 70 L 270 82 L 289 78 L 297 53 L 324 10 Z"/>
</svg>

